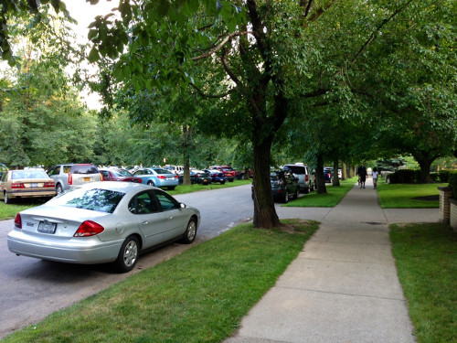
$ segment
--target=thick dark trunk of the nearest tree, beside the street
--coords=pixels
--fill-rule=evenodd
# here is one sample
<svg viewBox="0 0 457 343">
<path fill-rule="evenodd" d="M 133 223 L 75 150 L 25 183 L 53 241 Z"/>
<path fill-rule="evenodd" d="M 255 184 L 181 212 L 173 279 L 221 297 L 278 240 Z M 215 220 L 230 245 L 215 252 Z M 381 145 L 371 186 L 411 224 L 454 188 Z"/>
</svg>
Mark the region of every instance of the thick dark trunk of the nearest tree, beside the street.
<svg viewBox="0 0 457 343">
<path fill-rule="evenodd" d="M 271 194 L 270 157 L 272 135 L 254 144 L 254 227 L 271 229 L 281 225 Z"/>
</svg>

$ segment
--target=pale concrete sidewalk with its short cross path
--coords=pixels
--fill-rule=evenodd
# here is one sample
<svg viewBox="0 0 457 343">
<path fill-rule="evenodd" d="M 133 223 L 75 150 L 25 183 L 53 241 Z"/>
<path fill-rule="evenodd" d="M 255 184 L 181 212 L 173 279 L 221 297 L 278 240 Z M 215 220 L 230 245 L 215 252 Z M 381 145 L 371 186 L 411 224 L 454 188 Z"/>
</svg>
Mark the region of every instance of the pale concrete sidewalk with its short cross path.
<svg viewBox="0 0 457 343">
<path fill-rule="evenodd" d="M 371 181 L 316 209 L 320 219 L 313 209 L 278 210 L 321 227 L 226 343 L 415 342 L 388 224 L 436 222 L 439 209 L 380 209 Z"/>
</svg>

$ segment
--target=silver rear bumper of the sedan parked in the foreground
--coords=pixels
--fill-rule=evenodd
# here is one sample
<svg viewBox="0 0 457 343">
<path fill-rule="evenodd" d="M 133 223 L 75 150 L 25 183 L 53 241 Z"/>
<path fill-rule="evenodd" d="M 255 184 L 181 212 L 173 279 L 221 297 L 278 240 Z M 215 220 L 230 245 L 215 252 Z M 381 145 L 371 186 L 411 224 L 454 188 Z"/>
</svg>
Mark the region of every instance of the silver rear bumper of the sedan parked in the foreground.
<svg viewBox="0 0 457 343">
<path fill-rule="evenodd" d="M 40 239 L 21 230 L 8 233 L 8 249 L 18 255 L 61 263 L 110 263 L 116 260 L 122 240 L 100 241 L 98 237 Z"/>
</svg>

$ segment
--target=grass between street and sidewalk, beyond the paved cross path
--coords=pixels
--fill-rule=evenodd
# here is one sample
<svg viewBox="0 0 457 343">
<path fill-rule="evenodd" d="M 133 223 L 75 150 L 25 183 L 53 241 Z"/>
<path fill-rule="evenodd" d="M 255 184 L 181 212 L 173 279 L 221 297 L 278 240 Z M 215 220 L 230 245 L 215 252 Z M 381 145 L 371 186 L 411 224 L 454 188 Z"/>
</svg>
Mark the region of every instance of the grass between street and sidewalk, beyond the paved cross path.
<svg viewBox="0 0 457 343">
<path fill-rule="evenodd" d="M 356 182 L 356 177 L 348 178 L 344 181 L 340 181 L 339 187 L 327 185 L 327 193 L 325 194 L 317 194 L 317 192 L 314 191 L 282 206 L 291 208 L 333 208 L 342 198 L 345 198 L 345 195 L 349 190 L 354 188 Z"/>
</svg>

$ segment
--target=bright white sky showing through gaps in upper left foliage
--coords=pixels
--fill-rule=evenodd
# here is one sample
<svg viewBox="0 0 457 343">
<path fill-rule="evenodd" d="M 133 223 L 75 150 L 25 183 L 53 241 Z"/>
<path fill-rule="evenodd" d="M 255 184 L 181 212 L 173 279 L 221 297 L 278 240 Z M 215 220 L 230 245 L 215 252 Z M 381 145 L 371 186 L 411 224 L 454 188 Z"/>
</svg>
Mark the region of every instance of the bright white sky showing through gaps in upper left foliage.
<svg viewBox="0 0 457 343">
<path fill-rule="evenodd" d="M 81 43 L 86 43 L 88 41 L 88 27 L 94 17 L 104 16 L 112 12 L 112 8 L 119 5 L 119 0 L 99 0 L 97 5 L 90 5 L 90 3 L 87 3 L 86 0 L 64 0 L 63 2 L 67 5 L 69 15 L 78 21 L 78 25 L 75 27 L 75 32 Z M 83 98 L 83 101 L 87 103 L 90 110 L 101 109 L 100 96 L 98 94 L 82 93 L 81 97 Z"/>
</svg>

